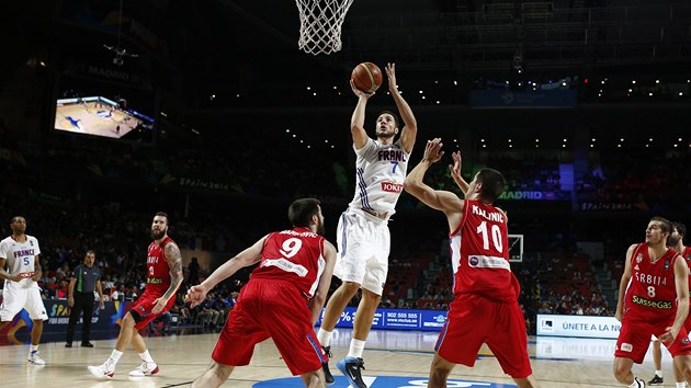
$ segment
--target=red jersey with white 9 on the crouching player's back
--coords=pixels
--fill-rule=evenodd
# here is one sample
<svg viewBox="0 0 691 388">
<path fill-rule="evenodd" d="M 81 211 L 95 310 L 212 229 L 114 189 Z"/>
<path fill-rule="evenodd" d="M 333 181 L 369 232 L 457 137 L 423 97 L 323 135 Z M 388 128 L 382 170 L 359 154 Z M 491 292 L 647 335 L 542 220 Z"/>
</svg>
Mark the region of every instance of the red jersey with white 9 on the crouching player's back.
<svg viewBox="0 0 691 388">
<path fill-rule="evenodd" d="M 252 278 L 290 281 L 311 298 L 325 266 L 324 237 L 295 228 L 269 235 Z"/>
</svg>

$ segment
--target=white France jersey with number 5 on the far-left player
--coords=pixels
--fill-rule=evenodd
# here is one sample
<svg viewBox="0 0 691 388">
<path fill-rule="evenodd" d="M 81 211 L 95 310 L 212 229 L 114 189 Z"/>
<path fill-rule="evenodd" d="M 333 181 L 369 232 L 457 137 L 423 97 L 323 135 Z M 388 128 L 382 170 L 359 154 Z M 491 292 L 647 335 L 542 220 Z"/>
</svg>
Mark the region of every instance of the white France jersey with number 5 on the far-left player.
<svg viewBox="0 0 691 388">
<path fill-rule="evenodd" d="M 35 237 L 26 235 L 25 242 L 15 241 L 12 237 L 8 237 L 0 242 L 0 258 L 7 259 L 7 266 L 11 275 L 20 274 L 24 277 L 20 283 L 20 287 L 38 287 L 38 284 L 30 277 L 34 275 L 34 264 L 36 255 L 41 254 L 38 240 Z M 5 281 L 8 286 L 10 281 Z"/>
</svg>

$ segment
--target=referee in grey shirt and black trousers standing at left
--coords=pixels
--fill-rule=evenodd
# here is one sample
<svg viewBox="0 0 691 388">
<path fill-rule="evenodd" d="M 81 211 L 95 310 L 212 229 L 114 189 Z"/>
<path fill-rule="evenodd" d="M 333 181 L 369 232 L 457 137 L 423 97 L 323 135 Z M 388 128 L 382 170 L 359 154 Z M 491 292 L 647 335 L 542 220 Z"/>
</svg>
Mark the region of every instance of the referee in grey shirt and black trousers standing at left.
<svg viewBox="0 0 691 388">
<path fill-rule="evenodd" d="M 81 328 L 81 345 L 93 347 L 89 342 L 91 334 L 91 317 L 93 316 L 93 290 L 99 293 L 99 307 L 103 308 L 103 290 L 101 289 L 101 270 L 94 266 L 95 252 L 87 251 L 84 262 L 75 267 L 69 279 L 69 295 L 67 304 L 71 308 L 69 312 L 69 323 L 67 324 L 67 336 L 65 347 L 72 347 L 75 338 L 75 327 L 79 316 L 83 312 L 83 326 Z"/>
</svg>

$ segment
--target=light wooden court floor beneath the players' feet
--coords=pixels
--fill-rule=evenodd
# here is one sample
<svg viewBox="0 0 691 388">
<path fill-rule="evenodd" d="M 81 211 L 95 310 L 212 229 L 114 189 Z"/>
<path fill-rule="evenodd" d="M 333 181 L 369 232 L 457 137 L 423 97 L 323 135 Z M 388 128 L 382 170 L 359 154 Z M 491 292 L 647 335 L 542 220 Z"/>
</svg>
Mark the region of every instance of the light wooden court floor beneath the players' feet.
<svg viewBox="0 0 691 388">
<path fill-rule="evenodd" d="M 336 361 L 348 352 L 350 329 L 337 329 L 332 340 L 335 361 L 331 369 L 337 376 L 333 388 L 348 387 L 340 383 Z M 200 376 L 209 362 L 216 343 L 216 333 L 149 336 L 146 342 L 159 365 L 156 376 L 140 379 L 128 378 L 127 372 L 139 365 L 133 350 L 125 352 L 112 380 L 98 380 L 87 370 L 87 365 L 99 365 L 110 355 L 114 340 L 93 341 L 95 347 L 71 349 L 63 342 L 41 345 L 45 366 L 26 364 L 27 345 L 0 346 L 0 376 L 3 385 L 12 387 L 186 387 Z M 363 373 L 371 388 L 407 387 L 422 385 L 426 379 L 434 332 L 372 331 L 364 353 Z M 535 377 L 543 388 L 621 387 L 612 376 L 614 340 L 531 338 L 530 354 Z M 662 367 L 666 384 L 673 387 L 671 360 L 664 354 Z M 653 376 L 654 367 L 648 357 L 643 365 L 634 366 L 634 373 L 646 381 Z M 408 376 L 412 384 L 390 385 L 390 376 Z M 297 378 L 291 378 L 287 368 L 271 341 L 257 346 L 249 366 L 238 367 L 225 387 L 301 387 Z M 283 379 L 271 383 L 274 379 Z M 669 379 L 669 381 L 667 381 Z M 403 380 L 403 379 L 401 379 Z M 269 381 L 269 383 L 268 383 Z M 287 383 L 286 383 L 287 381 Z M 457 366 L 449 387 L 513 387 L 512 380 L 503 375 L 496 358 L 488 350 L 482 350 L 474 368 Z"/>
</svg>

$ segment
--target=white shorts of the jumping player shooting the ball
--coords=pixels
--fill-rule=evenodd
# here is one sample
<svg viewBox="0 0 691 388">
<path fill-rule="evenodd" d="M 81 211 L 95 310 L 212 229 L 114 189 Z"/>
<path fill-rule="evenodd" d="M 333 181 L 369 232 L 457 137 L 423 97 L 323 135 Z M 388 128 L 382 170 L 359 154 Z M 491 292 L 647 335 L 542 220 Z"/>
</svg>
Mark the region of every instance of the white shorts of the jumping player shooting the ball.
<svg viewBox="0 0 691 388">
<path fill-rule="evenodd" d="M 343 282 L 358 283 L 382 295 L 388 273 L 390 235 L 386 221 L 364 213 L 347 210 L 337 229 L 338 256 L 333 274 Z"/>
</svg>

